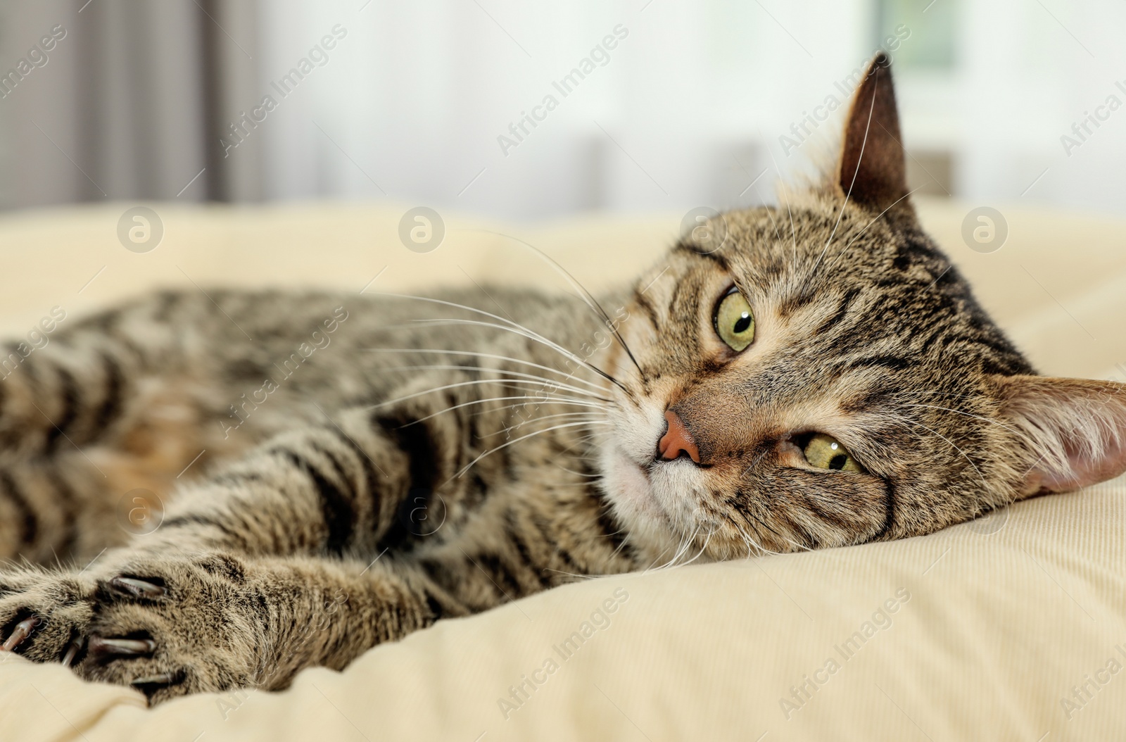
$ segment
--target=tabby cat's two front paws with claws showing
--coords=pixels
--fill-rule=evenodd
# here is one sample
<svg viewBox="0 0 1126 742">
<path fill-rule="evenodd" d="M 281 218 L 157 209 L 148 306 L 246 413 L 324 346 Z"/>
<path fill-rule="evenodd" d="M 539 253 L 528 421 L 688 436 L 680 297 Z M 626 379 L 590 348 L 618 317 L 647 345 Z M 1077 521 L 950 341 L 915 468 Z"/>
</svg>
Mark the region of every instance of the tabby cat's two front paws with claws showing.
<svg viewBox="0 0 1126 742">
<path fill-rule="evenodd" d="M 137 556 L 99 579 L 41 572 L 12 580 L 0 598 L 0 640 L 157 703 L 253 686 L 260 617 L 261 598 L 247 589 L 239 560 Z"/>
</svg>

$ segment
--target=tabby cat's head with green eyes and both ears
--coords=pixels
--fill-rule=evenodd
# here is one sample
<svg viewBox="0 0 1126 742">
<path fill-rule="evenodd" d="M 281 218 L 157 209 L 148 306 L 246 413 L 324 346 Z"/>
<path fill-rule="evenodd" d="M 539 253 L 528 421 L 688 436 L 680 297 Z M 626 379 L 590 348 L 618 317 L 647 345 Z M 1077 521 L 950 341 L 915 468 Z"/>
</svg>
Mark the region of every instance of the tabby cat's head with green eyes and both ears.
<svg viewBox="0 0 1126 742">
<path fill-rule="evenodd" d="M 712 557 L 931 533 L 1126 470 L 1126 387 L 1035 376 L 920 229 L 887 61 L 826 182 L 729 213 L 636 284 L 602 486 Z M 716 226 L 716 225 L 713 225 Z"/>
</svg>

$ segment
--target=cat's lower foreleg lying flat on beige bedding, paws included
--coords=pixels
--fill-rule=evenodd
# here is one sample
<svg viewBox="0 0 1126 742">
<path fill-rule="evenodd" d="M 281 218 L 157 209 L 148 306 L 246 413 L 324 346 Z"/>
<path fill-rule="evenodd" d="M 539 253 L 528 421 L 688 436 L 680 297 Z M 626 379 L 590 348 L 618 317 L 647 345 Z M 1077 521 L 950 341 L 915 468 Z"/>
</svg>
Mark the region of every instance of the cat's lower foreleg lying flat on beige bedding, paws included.
<svg viewBox="0 0 1126 742">
<path fill-rule="evenodd" d="M 0 578 L 17 592 L 0 599 L 0 611 L 26 616 L 10 624 L 6 646 L 65 662 L 90 680 L 132 685 L 157 703 L 189 692 L 285 688 L 303 668 L 342 669 L 376 644 L 464 613 L 390 554 L 368 563 L 138 554 L 116 569 L 119 574 L 86 581 Z"/>
</svg>

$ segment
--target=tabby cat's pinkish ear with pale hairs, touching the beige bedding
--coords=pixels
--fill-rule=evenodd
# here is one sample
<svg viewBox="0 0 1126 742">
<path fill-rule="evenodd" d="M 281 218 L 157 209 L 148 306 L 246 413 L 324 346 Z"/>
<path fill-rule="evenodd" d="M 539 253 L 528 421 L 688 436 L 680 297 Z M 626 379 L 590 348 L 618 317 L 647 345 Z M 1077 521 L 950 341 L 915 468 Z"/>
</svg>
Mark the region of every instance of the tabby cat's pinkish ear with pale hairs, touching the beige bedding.
<svg viewBox="0 0 1126 742">
<path fill-rule="evenodd" d="M 1035 459 L 1022 495 L 1069 492 L 1126 472 L 1126 384 L 999 376 L 1006 424 Z"/>
</svg>

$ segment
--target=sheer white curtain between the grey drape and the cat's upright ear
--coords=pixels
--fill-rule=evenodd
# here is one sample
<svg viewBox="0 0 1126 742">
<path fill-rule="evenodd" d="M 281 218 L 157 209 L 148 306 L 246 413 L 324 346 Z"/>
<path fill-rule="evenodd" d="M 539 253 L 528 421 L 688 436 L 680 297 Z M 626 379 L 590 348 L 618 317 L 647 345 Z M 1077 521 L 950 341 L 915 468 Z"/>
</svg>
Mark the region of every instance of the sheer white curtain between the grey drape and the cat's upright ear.
<svg viewBox="0 0 1126 742">
<path fill-rule="evenodd" d="M 348 36 L 263 127 L 267 195 L 386 193 L 517 217 L 758 202 L 776 177 L 762 138 L 863 63 L 869 5 L 272 3 L 269 75 L 334 24 Z M 588 59 L 564 96 L 553 83 Z M 547 96 L 557 106 L 520 133 Z M 499 138 L 516 140 L 510 126 L 516 146 Z"/>
</svg>

